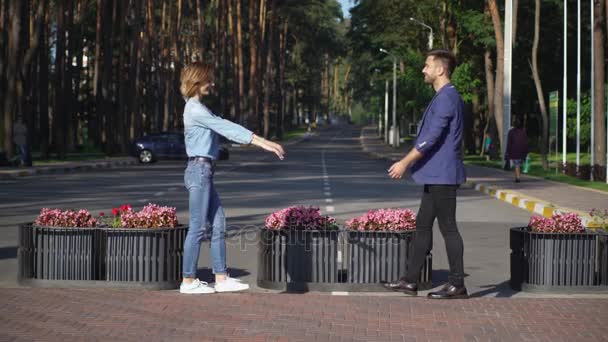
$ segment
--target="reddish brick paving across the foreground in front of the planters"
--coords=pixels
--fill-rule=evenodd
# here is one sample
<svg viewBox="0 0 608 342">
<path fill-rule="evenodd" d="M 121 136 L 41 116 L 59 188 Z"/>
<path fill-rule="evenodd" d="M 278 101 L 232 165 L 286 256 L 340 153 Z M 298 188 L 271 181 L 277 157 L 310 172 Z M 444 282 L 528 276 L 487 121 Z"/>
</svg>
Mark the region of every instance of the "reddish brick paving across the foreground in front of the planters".
<svg viewBox="0 0 608 342">
<path fill-rule="evenodd" d="M 2 341 L 606 341 L 608 299 L 2 289 Z M 188 310 L 188 311 L 186 311 Z"/>
</svg>

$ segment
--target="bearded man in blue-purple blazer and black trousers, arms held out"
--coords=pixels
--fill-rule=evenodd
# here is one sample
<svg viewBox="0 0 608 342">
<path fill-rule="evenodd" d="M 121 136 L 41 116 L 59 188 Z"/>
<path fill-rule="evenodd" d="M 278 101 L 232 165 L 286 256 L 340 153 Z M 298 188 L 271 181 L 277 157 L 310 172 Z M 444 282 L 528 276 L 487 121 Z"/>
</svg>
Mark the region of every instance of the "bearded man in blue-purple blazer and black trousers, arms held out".
<svg viewBox="0 0 608 342">
<path fill-rule="evenodd" d="M 388 170 L 389 176 L 400 179 L 411 169 L 412 178 L 424 185 L 420 209 L 416 217 L 413 250 L 408 260 L 407 274 L 389 289 L 417 295 L 416 282 L 424 264 L 428 247 L 432 244 L 435 218 L 445 239 L 450 264 L 449 281 L 429 298 L 466 298 L 464 286 L 463 243 L 456 226 L 456 190 L 465 182 L 461 158 L 463 131 L 462 98 L 450 83 L 456 58 L 446 50 L 432 50 L 427 54 L 422 73 L 424 81 L 435 89 L 435 96 L 427 107 L 420 126 L 416 145 Z"/>
</svg>

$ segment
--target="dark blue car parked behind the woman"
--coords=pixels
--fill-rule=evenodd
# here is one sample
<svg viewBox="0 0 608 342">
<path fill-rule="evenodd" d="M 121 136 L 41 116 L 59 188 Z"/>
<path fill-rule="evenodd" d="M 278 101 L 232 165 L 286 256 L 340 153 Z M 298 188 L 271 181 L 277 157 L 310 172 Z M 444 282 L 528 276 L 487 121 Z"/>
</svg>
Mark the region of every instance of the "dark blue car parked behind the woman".
<svg viewBox="0 0 608 342">
<path fill-rule="evenodd" d="M 186 159 L 186 145 L 183 133 L 150 134 L 133 141 L 131 155 L 140 163 L 152 163 L 159 159 Z M 220 148 L 220 160 L 228 159 L 225 146 Z"/>
</svg>

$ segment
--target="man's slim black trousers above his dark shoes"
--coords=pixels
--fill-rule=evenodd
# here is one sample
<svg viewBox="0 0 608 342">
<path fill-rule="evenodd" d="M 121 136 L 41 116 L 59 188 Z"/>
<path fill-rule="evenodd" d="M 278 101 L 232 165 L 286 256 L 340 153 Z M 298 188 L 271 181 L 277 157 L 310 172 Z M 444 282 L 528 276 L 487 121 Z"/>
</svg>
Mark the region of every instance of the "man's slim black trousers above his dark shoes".
<svg viewBox="0 0 608 342">
<path fill-rule="evenodd" d="M 413 249 L 410 251 L 408 260 L 408 271 L 406 281 L 416 283 L 420 278 L 420 272 L 424 260 L 432 245 L 433 222 L 435 218 L 439 221 L 439 230 L 448 253 L 450 284 L 464 286 L 463 266 L 463 243 L 462 237 L 456 225 L 456 190 L 458 185 L 435 185 L 424 186 L 420 209 L 416 216 L 416 233 L 414 234 Z"/>
</svg>

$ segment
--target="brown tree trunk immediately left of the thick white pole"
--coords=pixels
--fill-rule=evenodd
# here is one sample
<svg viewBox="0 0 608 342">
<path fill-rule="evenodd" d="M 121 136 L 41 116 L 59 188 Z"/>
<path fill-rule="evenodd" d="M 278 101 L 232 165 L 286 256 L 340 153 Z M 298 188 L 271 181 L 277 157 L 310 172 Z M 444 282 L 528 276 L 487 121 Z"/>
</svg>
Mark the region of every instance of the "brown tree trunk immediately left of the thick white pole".
<svg viewBox="0 0 608 342">
<path fill-rule="evenodd" d="M 498 131 L 498 140 L 502 149 L 503 141 L 503 90 L 504 90 L 504 41 L 502 37 L 502 28 L 500 21 L 500 13 L 496 6 L 496 0 L 487 0 L 490 14 L 492 15 L 492 23 L 494 25 L 494 34 L 496 36 L 496 82 L 494 85 L 494 118 L 496 120 L 496 128 Z M 508 125 L 509 123 L 504 123 Z"/>
</svg>

